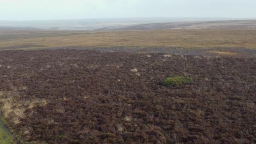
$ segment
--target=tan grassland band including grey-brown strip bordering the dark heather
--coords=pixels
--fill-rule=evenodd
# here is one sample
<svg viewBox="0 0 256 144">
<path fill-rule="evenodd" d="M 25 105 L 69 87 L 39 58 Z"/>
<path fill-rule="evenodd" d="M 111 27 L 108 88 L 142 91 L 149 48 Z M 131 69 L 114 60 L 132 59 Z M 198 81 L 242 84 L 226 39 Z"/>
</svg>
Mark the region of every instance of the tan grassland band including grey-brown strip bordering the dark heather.
<svg viewBox="0 0 256 144">
<path fill-rule="evenodd" d="M 0 50 L 83 49 L 135 53 L 256 56 L 256 29 L 152 31 L 0 30 Z"/>
</svg>

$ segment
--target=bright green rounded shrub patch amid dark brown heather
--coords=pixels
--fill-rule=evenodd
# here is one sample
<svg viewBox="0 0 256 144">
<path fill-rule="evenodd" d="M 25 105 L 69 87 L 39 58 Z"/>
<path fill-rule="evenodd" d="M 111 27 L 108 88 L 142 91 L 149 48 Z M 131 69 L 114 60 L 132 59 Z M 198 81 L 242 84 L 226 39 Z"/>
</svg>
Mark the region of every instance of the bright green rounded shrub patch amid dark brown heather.
<svg viewBox="0 0 256 144">
<path fill-rule="evenodd" d="M 162 81 L 162 85 L 177 87 L 191 82 L 193 82 L 191 77 L 174 76 L 165 78 L 164 81 Z"/>
</svg>

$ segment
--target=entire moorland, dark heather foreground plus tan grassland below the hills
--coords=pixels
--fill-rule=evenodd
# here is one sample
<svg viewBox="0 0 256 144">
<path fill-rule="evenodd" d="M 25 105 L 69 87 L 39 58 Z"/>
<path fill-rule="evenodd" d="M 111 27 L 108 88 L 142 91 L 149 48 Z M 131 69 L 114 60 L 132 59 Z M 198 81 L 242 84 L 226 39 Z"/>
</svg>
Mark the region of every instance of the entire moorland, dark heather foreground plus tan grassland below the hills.
<svg viewBox="0 0 256 144">
<path fill-rule="evenodd" d="M 0 29 L 0 143 L 256 143 L 255 39 Z"/>
</svg>

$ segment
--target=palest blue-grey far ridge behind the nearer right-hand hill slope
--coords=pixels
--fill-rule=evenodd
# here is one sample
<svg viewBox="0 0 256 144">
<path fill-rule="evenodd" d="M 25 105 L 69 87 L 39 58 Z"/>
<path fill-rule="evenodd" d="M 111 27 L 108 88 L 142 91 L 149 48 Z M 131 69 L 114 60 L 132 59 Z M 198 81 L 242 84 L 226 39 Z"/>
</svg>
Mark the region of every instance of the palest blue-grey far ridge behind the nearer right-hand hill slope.
<svg viewBox="0 0 256 144">
<path fill-rule="evenodd" d="M 123 19 L 78 19 L 78 20 L 38 20 L 38 21 L 1 21 L 0 29 L 45 29 L 45 30 L 73 30 L 73 31 L 95 31 L 97 29 L 110 30 L 113 28 L 123 28 L 127 26 L 137 26 L 147 23 L 197 23 L 203 21 L 230 21 L 245 19 L 232 18 L 207 18 L 207 17 L 137 17 L 137 18 L 123 18 Z M 235 25 L 236 23 L 233 22 Z M 251 20 L 247 20 L 251 21 Z M 253 19 L 252 19 L 253 22 Z M 181 24 L 182 24 L 181 23 Z M 181 25 L 182 27 L 183 25 Z M 207 26 L 207 25 L 206 25 Z M 247 27 L 247 25 L 245 25 Z"/>
</svg>

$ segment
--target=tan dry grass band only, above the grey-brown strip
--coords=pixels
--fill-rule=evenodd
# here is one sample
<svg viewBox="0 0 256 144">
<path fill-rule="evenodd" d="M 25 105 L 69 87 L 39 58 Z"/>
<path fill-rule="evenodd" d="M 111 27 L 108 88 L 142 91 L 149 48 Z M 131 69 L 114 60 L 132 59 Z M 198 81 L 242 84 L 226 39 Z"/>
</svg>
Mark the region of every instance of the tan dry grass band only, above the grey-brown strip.
<svg viewBox="0 0 256 144">
<path fill-rule="evenodd" d="M 170 29 L 153 31 L 0 31 L 0 49 L 49 47 L 256 48 L 256 29 Z"/>
</svg>

